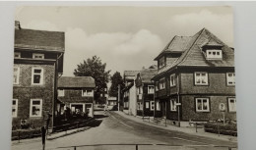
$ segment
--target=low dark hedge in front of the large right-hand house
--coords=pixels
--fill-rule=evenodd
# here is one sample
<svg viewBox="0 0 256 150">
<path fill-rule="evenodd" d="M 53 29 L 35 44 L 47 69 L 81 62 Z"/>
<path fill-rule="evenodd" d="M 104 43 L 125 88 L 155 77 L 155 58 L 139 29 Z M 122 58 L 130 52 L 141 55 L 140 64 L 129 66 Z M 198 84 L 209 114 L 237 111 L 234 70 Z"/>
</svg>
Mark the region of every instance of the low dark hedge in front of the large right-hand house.
<svg viewBox="0 0 256 150">
<path fill-rule="evenodd" d="M 236 124 L 223 125 L 220 123 L 207 123 L 204 126 L 206 132 L 219 133 L 220 131 L 220 134 L 237 136 Z"/>
</svg>

